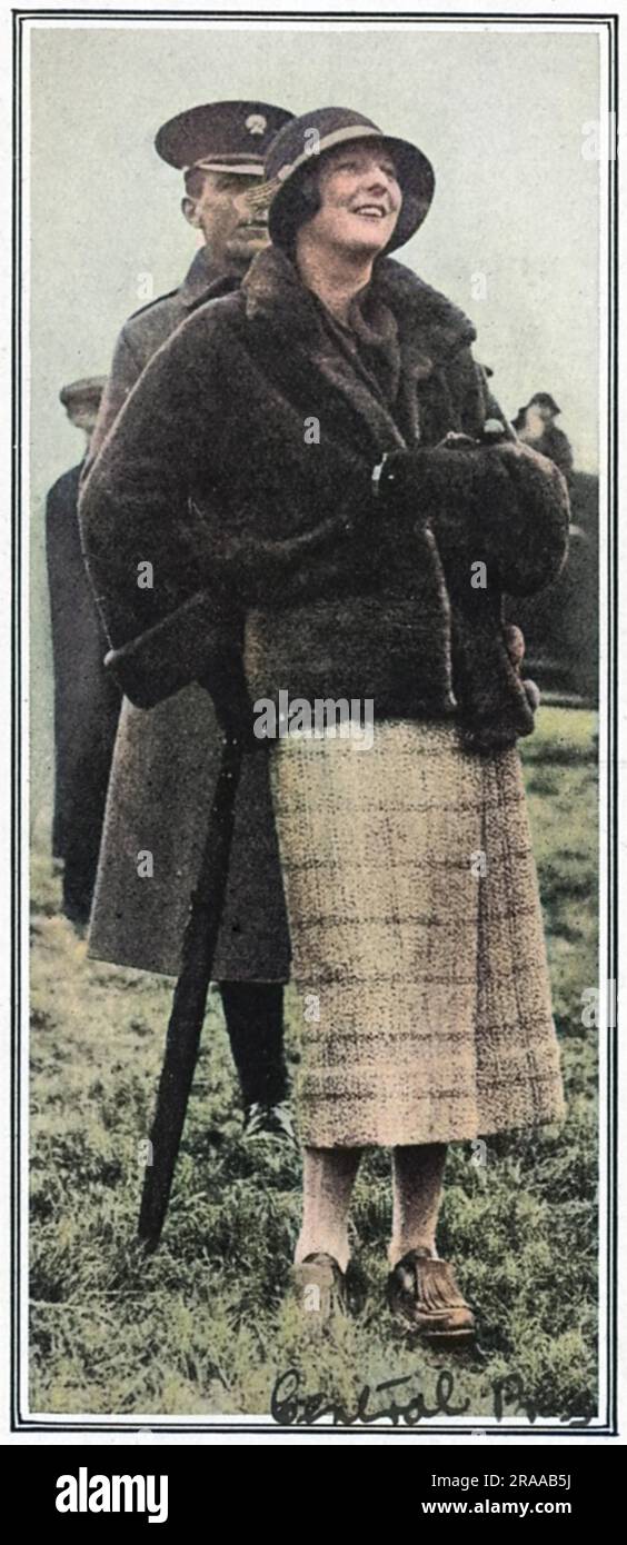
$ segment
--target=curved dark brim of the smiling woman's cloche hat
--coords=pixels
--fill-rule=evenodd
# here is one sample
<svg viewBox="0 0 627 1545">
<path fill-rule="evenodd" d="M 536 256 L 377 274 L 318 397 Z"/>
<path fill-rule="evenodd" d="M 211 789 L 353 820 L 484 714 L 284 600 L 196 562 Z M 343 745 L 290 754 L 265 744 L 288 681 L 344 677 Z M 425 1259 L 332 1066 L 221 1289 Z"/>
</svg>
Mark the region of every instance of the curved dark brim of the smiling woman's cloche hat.
<svg viewBox="0 0 627 1545">
<path fill-rule="evenodd" d="M 395 161 L 400 190 L 403 195 L 400 215 L 385 250 L 394 252 L 397 247 L 403 247 L 405 243 L 415 235 L 429 213 L 436 192 L 436 173 L 431 161 L 408 139 L 397 139 L 392 134 L 381 134 L 378 130 L 355 124 L 323 136 L 315 154 L 309 153 L 300 156 L 298 161 L 287 168 L 287 173 L 283 173 L 281 185 L 272 199 L 269 212 L 269 230 L 273 241 L 281 243 L 281 238 L 286 233 L 290 198 L 295 187 L 298 187 L 304 170 L 312 164 L 315 165 L 320 156 L 335 150 L 338 145 L 363 139 L 378 141 L 378 144 L 389 148 Z"/>
</svg>

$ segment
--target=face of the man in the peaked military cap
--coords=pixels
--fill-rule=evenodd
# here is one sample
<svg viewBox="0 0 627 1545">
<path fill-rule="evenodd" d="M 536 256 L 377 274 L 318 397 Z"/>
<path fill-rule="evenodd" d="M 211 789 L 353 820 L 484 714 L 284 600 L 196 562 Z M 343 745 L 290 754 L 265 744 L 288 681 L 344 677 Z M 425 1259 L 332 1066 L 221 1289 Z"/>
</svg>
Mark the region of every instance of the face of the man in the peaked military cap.
<svg viewBox="0 0 627 1545">
<path fill-rule="evenodd" d="M 205 171 L 201 190 L 182 201 L 185 219 L 202 230 L 212 260 L 224 272 L 244 273 L 255 253 L 267 247 L 267 215 L 247 207 L 247 193 L 261 181 L 261 173 Z"/>
</svg>

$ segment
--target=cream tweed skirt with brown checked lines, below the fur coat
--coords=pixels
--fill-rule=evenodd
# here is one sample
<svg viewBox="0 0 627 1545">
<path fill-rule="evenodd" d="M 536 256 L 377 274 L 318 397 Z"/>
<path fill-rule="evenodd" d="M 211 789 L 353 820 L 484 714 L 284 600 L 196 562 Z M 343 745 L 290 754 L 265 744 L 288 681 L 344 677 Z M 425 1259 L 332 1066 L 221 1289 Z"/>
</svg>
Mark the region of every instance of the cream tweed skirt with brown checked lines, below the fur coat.
<svg viewBox="0 0 627 1545">
<path fill-rule="evenodd" d="M 301 998 L 301 1142 L 409 1145 L 554 1122 L 559 1046 L 514 748 L 454 722 L 286 737 L 270 766 Z"/>
</svg>

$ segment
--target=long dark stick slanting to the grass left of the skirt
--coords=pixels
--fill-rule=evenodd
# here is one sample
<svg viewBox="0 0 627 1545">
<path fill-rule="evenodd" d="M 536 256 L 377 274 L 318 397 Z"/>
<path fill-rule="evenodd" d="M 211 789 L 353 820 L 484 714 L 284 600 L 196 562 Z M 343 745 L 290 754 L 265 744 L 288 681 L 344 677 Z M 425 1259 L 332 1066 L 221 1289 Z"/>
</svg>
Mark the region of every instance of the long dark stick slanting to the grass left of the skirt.
<svg viewBox="0 0 627 1545">
<path fill-rule="evenodd" d="M 139 1211 L 139 1239 L 148 1250 L 159 1244 L 187 1102 L 198 1060 L 207 992 L 222 916 L 235 820 L 242 742 L 227 734 L 218 774 L 208 831 L 191 908 L 182 941 L 182 967 L 165 1040 L 154 1122 L 150 1134 L 151 1163 L 147 1168 Z"/>
</svg>

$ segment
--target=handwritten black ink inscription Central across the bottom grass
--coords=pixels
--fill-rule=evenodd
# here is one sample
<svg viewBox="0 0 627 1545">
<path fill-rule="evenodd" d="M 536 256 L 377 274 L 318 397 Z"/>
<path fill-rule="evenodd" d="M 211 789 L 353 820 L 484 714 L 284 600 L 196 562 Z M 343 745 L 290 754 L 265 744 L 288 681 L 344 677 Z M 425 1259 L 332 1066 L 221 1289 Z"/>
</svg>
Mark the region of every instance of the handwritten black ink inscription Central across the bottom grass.
<svg viewBox="0 0 627 1545">
<path fill-rule="evenodd" d="M 415 1374 L 405 1374 L 402 1378 L 388 1378 L 381 1384 L 364 1384 L 355 1406 L 349 1409 L 341 1401 L 329 1400 L 323 1390 L 306 1394 L 303 1374 L 297 1367 L 289 1367 L 286 1374 L 280 1374 L 272 1390 L 272 1420 L 286 1428 L 312 1426 L 324 1417 L 330 1417 L 335 1428 L 351 1428 L 357 1421 L 366 1426 L 371 1421 L 391 1421 L 395 1428 L 400 1423 L 414 1428 L 419 1421 L 429 1421 L 434 1417 L 463 1417 L 468 1412 L 469 1400 L 452 1404 L 456 1377 L 451 1369 L 442 1369 L 437 1375 L 431 1403 L 422 1389 L 408 1389 L 408 1384 L 414 1384 L 415 1377 Z M 402 1389 L 408 1398 L 391 1394 L 391 1390 L 400 1392 Z M 531 1400 L 525 1400 L 516 1374 L 493 1383 L 493 1409 L 497 1421 L 502 1421 L 508 1414 L 524 1415 L 528 1421 L 536 1421 L 541 1414 Z M 578 1426 L 587 1426 L 587 1420 L 590 1418 L 578 1420 Z"/>
</svg>

